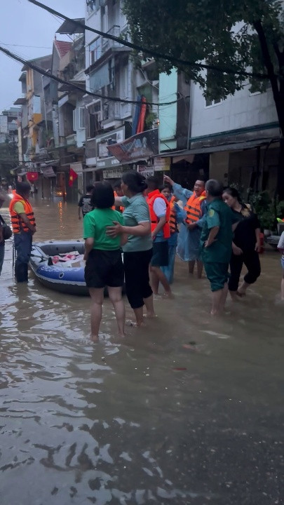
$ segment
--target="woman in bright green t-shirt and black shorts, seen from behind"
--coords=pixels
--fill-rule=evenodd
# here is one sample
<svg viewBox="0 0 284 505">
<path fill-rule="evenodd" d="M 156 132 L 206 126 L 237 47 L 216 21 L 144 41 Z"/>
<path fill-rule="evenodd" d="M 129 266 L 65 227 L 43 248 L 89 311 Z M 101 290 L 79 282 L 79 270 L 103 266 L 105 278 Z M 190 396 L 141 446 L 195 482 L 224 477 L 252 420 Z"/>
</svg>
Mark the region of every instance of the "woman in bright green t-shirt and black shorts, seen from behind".
<svg viewBox="0 0 284 505">
<path fill-rule="evenodd" d="M 109 299 L 114 305 L 119 335 L 124 337 L 126 311 L 122 299 L 124 269 L 121 257 L 121 245 L 127 242 L 127 235 L 110 237 L 107 227 L 114 221 L 123 224 L 121 213 L 112 210 L 114 191 L 108 182 L 95 184 L 92 198 L 94 210 L 86 214 L 83 220 L 85 238 L 85 281 L 92 300 L 90 311 L 91 339 L 95 342 L 99 336 L 102 320 L 104 288 L 107 286 Z"/>
</svg>

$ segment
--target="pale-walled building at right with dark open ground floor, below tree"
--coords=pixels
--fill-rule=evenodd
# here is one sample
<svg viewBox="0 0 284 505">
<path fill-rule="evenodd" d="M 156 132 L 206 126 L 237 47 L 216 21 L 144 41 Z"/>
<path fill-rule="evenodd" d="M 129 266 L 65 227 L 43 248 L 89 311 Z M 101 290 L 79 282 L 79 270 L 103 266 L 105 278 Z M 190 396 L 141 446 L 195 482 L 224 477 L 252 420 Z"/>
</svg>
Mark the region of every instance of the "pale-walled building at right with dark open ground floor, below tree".
<svg viewBox="0 0 284 505">
<path fill-rule="evenodd" d="M 279 128 L 271 88 L 246 85 L 226 100 L 205 100 L 192 86 L 191 152 L 210 154 L 210 176 L 253 189 L 276 187 Z"/>
</svg>

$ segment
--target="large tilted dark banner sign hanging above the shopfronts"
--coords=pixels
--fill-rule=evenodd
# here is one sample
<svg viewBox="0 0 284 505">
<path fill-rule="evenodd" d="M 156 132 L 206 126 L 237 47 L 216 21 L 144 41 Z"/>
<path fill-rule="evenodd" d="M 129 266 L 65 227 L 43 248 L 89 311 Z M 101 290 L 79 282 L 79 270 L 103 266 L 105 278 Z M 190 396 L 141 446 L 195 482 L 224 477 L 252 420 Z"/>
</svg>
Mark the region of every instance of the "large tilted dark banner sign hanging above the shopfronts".
<svg viewBox="0 0 284 505">
<path fill-rule="evenodd" d="M 158 128 L 133 135 L 120 144 L 109 145 L 109 152 L 121 163 L 133 163 L 158 154 Z"/>
</svg>

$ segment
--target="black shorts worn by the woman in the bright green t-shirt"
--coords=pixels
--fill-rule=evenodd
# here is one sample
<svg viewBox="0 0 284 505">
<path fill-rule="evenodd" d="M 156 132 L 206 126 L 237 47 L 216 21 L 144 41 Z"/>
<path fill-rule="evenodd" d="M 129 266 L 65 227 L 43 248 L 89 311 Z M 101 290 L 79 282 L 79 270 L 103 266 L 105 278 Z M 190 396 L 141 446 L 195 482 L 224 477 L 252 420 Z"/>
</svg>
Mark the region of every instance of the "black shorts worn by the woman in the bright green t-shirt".
<svg viewBox="0 0 284 505">
<path fill-rule="evenodd" d="M 122 287 L 124 269 L 121 250 L 91 250 L 85 267 L 85 281 L 88 288 Z"/>
</svg>

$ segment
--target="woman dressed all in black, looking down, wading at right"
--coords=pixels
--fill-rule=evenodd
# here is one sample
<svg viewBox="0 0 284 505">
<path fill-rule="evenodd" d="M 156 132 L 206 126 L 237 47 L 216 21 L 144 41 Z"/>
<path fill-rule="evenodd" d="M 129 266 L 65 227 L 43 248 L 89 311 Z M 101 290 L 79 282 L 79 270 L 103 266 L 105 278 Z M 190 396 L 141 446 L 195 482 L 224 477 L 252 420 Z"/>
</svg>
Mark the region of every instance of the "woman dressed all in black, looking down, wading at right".
<svg viewBox="0 0 284 505">
<path fill-rule="evenodd" d="M 231 297 L 236 299 L 236 296 L 245 295 L 248 286 L 255 283 L 261 272 L 258 255 L 261 249 L 260 225 L 257 215 L 248 204 L 241 202 L 236 189 L 224 189 L 223 200 L 238 217 L 238 226 L 234 232 L 232 244 L 229 278 L 229 291 Z M 248 273 L 245 274 L 243 283 L 238 287 L 243 264 L 247 267 Z"/>
</svg>

